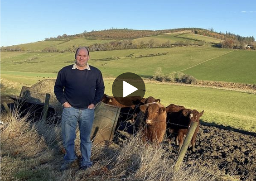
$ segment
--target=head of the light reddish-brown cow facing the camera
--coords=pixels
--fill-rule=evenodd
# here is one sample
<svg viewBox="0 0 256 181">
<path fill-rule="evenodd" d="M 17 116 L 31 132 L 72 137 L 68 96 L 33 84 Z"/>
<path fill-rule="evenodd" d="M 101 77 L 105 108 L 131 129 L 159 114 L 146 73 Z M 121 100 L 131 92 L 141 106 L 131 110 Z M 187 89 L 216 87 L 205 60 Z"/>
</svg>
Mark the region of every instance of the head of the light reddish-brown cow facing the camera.
<svg viewBox="0 0 256 181">
<path fill-rule="evenodd" d="M 148 103 L 145 105 L 140 105 L 140 110 L 145 114 L 145 121 L 148 125 L 152 125 L 158 121 L 158 117 L 161 114 L 165 113 L 166 117 L 166 109 L 159 103 Z"/>
</svg>

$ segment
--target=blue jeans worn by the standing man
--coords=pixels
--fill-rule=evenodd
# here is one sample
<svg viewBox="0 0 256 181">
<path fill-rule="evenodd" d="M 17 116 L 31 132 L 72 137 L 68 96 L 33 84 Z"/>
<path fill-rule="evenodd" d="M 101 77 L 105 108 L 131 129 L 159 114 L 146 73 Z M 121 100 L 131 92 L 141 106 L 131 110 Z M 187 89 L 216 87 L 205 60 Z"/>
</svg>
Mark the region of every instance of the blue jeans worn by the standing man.
<svg viewBox="0 0 256 181">
<path fill-rule="evenodd" d="M 94 118 L 94 110 L 77 110 L 73 107 L 63 108 L 61 129 L 63 135 L 63 144 L 66 149 L 64 160 L 73 162 L 77 159 L 75 155 L 75 138 L 77 122 L 80 131 L 80 150 L 82 153 L 81 167 L 91 166 L 90 161 L 92 142 L 90 135 L 92 131 L 92 123 Z"/>
</svg>

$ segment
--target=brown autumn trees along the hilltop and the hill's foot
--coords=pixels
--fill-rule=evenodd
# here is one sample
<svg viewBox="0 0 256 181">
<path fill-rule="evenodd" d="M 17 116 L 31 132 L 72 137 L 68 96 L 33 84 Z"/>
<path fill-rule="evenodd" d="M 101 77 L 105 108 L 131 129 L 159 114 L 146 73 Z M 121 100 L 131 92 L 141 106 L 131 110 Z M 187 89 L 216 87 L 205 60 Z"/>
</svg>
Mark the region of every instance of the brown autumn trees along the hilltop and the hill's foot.
<svg viewBox="0 0 256 181">
<path fill-rule="evenodd" d="M 154 39 L 151 39 L 148 42 L 141 41 L 140 43 L 134 43 L 132 39 L 135 38 L 143 38 L 147 36 L 156 36 L 164 33 L 175 33 L 180 31 L 189 30 L 192 33 L 200 34 L 204 36 L 209 36 L 213 38 L 218 38 L 224 40 L 222 43 L 206 43 L 205 41 L 194 40 L 187 38 L 184 41 L 177 41 L 175 43 L 170 43 L 170 41 L 166 41 L 165 43 L 155 43 Z M 90 51 L 106 51 L 106 50 L 121 50 L 121 49 L 137 49 L 137 48 L 169 48 L 174 46 L 216 46 L 219 48 L 237 48 L 237 49 L 254 49 L 256 48 L 255 38 L 253 36 L 250 37 L 242 37 L 236 35 L 234 33 L 226 32 L 226 33 L 217 33 L 212 29 L 195 29 L 195 28 L 182 28 L 182 29 L 166 29 L 166 30 L 133 30 L 133 29 L 108 29 L 103 31 L 92 31 L 92 32 L 84 32 L 76 35 L 67 35 L 63 34 L 59 35 L 56 38 L 45 38 L 45 41 L 69 41 L 74 38 L 87 38 L 87 39 L 116 39 L 109 43 L 95 43 L 93 45 L 89 45 L 88 48 Z M 251 46 L 249 46 L 251 45 Z M 21 46 L 10 46 L 10 47 L 1 47 L 1 51 L 28 51 L 28 52 L 74 52 L 78 48 L 78 46 L 73 45 L 68 48 L 55 48 L 55 47 L 47 47 L 41 50 L 34 50 L 32 48 L 26 49 Z"/>
</svg>

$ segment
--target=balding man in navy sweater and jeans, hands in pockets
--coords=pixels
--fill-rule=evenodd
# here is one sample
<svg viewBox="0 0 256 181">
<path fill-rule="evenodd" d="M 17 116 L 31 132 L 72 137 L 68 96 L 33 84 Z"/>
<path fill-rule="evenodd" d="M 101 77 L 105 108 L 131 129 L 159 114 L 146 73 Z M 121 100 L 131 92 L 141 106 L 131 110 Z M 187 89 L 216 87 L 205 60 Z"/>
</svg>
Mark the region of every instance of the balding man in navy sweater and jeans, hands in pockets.
<svg viewBox="0 0 256 181">
<path fill-rule="evenodd" d="M 87 64 L 89 50 L 78 48 L 76 62 L 63 67 L 59 72 L 54 86 L 54 94 L 63 105 L 62 135 L 66 150 L 64 163 L 60 170 L 66 170 L 77 157 L 75 155 L 75 138 L 77 122 L 80 130 L 80 150 L 82 162 L 80 170 L 92 166 L 90 161 L 92 142 L 90 134 L 94 118 L 94 107 L 104 94 L 104 83 L 101 71 Z"/>
</svg>

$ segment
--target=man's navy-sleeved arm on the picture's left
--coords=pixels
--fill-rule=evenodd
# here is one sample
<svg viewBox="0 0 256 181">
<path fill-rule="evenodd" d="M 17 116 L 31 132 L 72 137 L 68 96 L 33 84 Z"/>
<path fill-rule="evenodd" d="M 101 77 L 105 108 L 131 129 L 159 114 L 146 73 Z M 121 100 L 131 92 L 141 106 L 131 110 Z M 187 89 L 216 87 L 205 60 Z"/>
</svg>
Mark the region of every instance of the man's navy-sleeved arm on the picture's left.
<svg viewBox="0 0 256 181">
<path fill-rule="evenodd" d="M 55 81 L 55 86 L 54 86 L 54 94 L 56 95 L 58 101 L 60 102 L 60 104 L 64 105 L 64 103 L 68 103 L 68 101 L 66 100 L 65 96 L 64 96 L 64 84 L 65 80 L 64 80 L 64 75 L 63 75 L 63 71 L 60 70 L 58 72 L 58 76 L 57 79 Z"/>
</svg>

